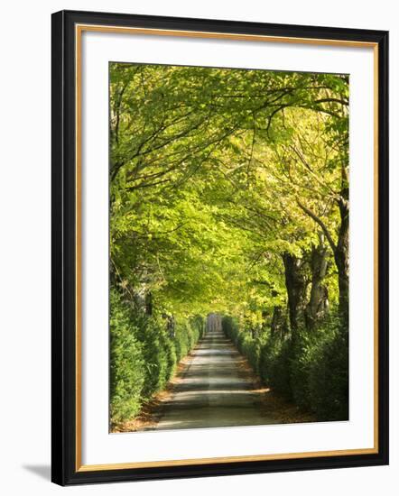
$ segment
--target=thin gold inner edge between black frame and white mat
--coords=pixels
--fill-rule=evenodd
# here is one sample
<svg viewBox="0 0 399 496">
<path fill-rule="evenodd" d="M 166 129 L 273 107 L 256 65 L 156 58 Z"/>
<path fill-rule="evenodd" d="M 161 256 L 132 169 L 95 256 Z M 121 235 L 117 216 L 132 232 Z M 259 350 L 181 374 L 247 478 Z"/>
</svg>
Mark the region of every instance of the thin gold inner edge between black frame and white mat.
<svg viewBox="0 0 399 496">
<path fill-rule="evenodd" d="M 194 458 L 186 460 L 160 460 L 151 462 L 132 462 L 119 464 L 82 464 L 82 427 L 81 427 L 81 38 L 83 32 L 115 32 L 123 34 L 146 34 L 158 36 L 175 36 L 204 39 L 225 39 L 233 41 L 264 41 L 274 43 L 328 45 L 339 47 L 372 48 L 374 56 L 374 446 L 370 448 L 313 451 L 302 453 L 285 453 L 269 455 L 243 455 L 211 458 Z M 378 453 L 378 44 L 372 41 L 329 40 L 316 38 L 296 38 L 285 36 L 268 36 L 237 34 L 223 32 L 197 32 L 184 30 L 164 30 L 152 28 L 133 28 L 124 26 L 106 26 L 101 24 L 75 25 L 75 92 L 76 92 L 76 472 L 96 472 L 105 470 L 123 470 L 134 468 L 183 466 L 194 464 L 226 464 L 268 460 L 292 460 L 342 455 L 371 455 Z"/>
</svg>

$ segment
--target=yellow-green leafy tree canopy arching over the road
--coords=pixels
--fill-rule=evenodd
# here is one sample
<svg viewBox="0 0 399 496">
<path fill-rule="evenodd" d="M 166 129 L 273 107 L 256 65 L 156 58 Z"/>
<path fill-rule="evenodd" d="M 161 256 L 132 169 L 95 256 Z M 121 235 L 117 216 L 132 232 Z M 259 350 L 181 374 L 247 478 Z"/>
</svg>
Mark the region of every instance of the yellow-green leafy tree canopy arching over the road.
<svg viewBox="0 0 399 496">
<path fill-rule="evenodd" d="M 347 76 L 112 63 L 110 111 L 111 265 L 132 297 L 260 321 L 289 299 L 283 256 L 320 245 L 329 301 L 345 293 Z"/>
</svg>

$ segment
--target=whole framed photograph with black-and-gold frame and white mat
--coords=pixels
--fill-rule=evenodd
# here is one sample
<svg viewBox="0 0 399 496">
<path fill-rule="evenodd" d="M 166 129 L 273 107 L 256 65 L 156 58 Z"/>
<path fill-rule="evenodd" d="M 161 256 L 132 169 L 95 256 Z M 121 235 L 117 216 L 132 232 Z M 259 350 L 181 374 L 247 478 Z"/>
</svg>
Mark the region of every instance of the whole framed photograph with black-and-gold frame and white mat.
<svg viewBox="0 0 399 496">
<path fill-rule="evenodd" d="M 52 481 L 388 463 L 388 33 L 52 15 Z"/>
</svg>

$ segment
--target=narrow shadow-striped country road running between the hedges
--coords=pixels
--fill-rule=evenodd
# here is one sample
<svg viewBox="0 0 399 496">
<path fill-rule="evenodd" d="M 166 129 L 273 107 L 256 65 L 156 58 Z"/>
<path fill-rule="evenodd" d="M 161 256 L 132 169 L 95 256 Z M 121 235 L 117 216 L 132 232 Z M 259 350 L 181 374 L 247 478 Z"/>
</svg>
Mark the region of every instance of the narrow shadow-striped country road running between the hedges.
<svg viewBox="0 0 399 496">
<path fill-rule="evenodd" d="M 156 429 L 274 424 L 262 414 L 261 393 L 243 358 L 219 330 L 209 330 L 162 404 Z"/>
</svg>

